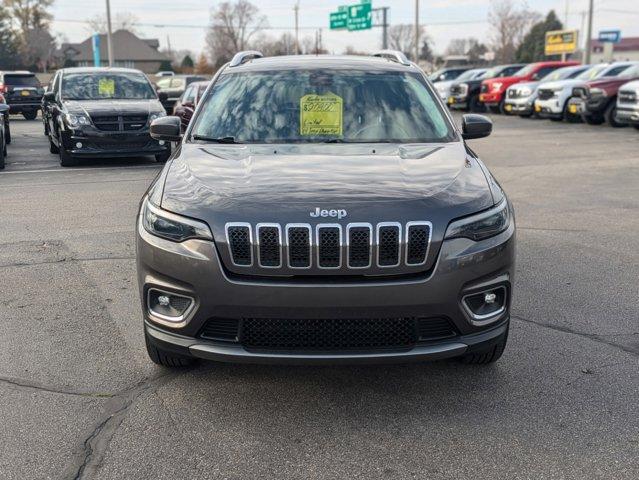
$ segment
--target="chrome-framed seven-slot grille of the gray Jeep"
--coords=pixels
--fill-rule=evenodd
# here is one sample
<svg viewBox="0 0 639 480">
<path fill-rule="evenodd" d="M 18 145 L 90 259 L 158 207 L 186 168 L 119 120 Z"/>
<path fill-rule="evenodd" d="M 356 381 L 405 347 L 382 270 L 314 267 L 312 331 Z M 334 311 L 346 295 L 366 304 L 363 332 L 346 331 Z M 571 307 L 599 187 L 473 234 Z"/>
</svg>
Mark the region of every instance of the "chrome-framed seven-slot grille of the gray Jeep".
<svg viewBox="0 0 639 480">
<path fill-rule="evenodd" d="M 264 269 L 387 269 L 428 262 L 431 222 L 226 224 L 230 260 Z M 254 260 L 256 259 L 256 260 Z"/>
</svg>

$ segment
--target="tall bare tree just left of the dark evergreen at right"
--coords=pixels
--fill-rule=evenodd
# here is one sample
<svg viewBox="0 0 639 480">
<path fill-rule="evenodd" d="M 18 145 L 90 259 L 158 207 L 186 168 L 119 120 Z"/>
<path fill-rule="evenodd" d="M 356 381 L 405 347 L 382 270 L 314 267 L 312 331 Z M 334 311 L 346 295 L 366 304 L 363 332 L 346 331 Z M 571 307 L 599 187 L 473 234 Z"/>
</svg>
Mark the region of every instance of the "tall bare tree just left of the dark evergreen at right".
<svg viewBox="0 0 639 480">
<path fill-rule="evenodd" d="M 498 62 L 512 62 L 515 52 L 539 14 L 515 0 L 492 0 L 488 22 L 493 31 L 492 47 Z"/>
</svg>

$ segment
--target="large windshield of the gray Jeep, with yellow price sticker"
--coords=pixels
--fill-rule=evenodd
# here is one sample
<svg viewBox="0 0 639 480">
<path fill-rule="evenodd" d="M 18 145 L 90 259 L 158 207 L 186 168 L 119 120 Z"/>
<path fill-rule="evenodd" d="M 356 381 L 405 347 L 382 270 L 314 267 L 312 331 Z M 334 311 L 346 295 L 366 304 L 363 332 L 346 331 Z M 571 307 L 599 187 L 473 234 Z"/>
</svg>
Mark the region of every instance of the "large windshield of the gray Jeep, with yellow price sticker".
<svg viewBox="0 0 639 480">
<path fill-rule="evenodd" d="M 202 100 L 196 140 L 421 143 L 455 138 L 416 73 L 285 70 L 225 74 Z"/>
</svg>

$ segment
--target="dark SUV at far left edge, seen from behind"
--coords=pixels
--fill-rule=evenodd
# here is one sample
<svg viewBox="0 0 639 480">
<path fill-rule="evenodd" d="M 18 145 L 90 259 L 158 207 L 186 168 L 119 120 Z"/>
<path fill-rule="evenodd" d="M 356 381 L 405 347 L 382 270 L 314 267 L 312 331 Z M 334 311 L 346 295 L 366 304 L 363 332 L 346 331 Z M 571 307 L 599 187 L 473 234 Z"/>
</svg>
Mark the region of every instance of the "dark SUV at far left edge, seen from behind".
<svg viewBox="0 0 639 480">
<path fill-rule="evenodd" d="M 12 114 L 21 113 L 27 120 L 35 120 L 38 116 L 44 88 L 35 73 L 0 72 L 0 93 Z"/>
</svg>

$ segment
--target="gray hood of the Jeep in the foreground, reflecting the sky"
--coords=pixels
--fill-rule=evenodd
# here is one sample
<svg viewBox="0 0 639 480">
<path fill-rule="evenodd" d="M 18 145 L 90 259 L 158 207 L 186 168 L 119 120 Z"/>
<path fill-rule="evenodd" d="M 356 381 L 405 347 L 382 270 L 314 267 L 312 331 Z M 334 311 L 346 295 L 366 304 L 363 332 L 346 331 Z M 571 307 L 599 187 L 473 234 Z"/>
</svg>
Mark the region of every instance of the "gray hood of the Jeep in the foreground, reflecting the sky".
<svg viewBox="0 0 639 480">
<path fill-rule="evenodd" d="M 433 222 L 493 205 L 480 163 L 462 142 L 419 145 L 185 143 L 165 167 L 162 208 L 206 221 L 313 223 L 316 208 L 348 222 Z M 326 219 L 322 219 L 326 221 Z M 329 219 L 330 220 L 330 219 Z"/>
</svg>

